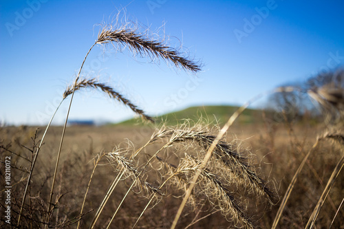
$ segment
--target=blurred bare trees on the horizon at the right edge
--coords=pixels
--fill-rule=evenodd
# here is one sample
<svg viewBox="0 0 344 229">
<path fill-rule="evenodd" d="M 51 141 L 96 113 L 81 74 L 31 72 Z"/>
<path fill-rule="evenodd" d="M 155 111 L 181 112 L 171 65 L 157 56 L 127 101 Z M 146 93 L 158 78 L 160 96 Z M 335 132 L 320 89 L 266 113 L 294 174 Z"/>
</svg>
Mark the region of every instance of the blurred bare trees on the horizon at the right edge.
<svg viewBox="0 0 344 229">
<path fill-rule="evenodd" d="M 288 122 L 311 118 L 334 122 L 343 119 L 344 68 L 323 72 L 303 83 L 290 83 L 281 87 L 292 88 L 271 94 L 266 109 L 273 111 L 275 121 Z"/>
</svg>

